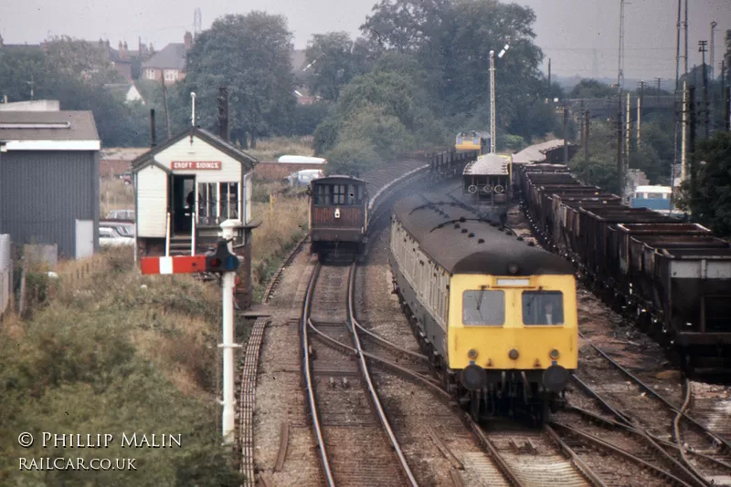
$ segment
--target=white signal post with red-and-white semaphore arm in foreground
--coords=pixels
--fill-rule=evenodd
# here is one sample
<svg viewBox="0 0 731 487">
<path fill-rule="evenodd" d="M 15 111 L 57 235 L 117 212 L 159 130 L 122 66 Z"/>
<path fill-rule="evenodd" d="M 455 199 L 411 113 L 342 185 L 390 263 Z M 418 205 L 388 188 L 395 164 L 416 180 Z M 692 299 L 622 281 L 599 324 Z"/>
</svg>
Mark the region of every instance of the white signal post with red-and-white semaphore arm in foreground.
<svg viewBox="0 0 731 487">
<path fill-rule="evenodd" d="M 143 275 L 216 273 L 222 276 L 223 340 L 223 405 L 222 435 L 225 444 L 234 442 L 236 399 L 234 399 L 234 287 L 236 270 L 240 265 L 231 244 L 240 223 L 227 220 L 221 223 L 221 237 L 216 252 L 208 255 L 178 255 L 173 257 L 143 257 L 140 260 Z"/>
</svg>

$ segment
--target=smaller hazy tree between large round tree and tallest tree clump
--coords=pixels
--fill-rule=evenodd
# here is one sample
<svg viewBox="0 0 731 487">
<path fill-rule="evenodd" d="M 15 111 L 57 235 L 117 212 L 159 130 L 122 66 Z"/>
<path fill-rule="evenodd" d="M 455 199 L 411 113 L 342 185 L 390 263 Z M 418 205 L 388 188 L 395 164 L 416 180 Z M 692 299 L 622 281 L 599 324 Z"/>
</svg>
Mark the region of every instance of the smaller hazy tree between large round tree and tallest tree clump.
<svg viewBox="0 0 731 487">
<path fill-rule="evenodd" d="M 307 84 L 313 95 L 334 101 L 353 78 L 353 41 L 346 32 L 315 34 L 305 51 L 310 65 Z"/>
</svg>

